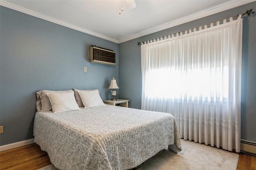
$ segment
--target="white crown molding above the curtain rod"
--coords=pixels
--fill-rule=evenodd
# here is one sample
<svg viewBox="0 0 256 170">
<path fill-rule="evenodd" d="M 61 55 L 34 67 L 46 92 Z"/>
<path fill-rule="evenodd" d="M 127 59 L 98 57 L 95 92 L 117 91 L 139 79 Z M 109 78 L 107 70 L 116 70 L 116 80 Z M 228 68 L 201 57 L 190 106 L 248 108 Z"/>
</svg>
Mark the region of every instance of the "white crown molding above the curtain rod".
<svg viewBox="0 0 256 170">
<path fill-rule="evenodd" d="M 211 9 L 211 10 L 207 10 L 205 12 L 201 12 L 201 13 L 195 14 L 193 16 L 189 16 L 189 17 L 186 17 L 186 18 L 181 18 L 179 20 L 175 20 L 175 21 L 172 21 L 170 23 L 166 23 L 164 25 L 160 25 L 158 27 L 154 27 L 152 29 L 148 29 L 146 31 L 142 31 L 142 32 L 140 32 L 138 34 L 134 34 L 134 35 L 132 35 L 130 37 L 127 37 L 125 39 L 119 40 L 118 43 L 123 43 L 123 42 L 129 41 L 129 40 L 132 40 L 132 39 L 135 39 L 135 38 L 138 38 L 138 37 L 142 37 L 144 35 L 148 35 L 148 34 L 151 34 L 151 33 L 162 31 L 164 29 L 175 27 L 175 26 L 181 25 L 183 23 L 187 23 L 187 22 L 194 21 L 194 20 L 197 20 L 197 19 L 200 19 L 200 18 L 204 18 L 206 16 L 210 16 L 212 14 L 223 12 L 223 11 L 229 10 L 231 8 L 236 8 L 238 6 L 242 6 L 244 4 L 248 4 L 248 3 L 254 2 L 254 1 L 256 1 L 256 0 L 236 0 L 236 1 L 232 1 L 232 2 L 229 2 L 228 4 L 224 4 L 222 6 L 218 6 L 218 7 L 214 8 L 214 9 Z"/>
</svg>

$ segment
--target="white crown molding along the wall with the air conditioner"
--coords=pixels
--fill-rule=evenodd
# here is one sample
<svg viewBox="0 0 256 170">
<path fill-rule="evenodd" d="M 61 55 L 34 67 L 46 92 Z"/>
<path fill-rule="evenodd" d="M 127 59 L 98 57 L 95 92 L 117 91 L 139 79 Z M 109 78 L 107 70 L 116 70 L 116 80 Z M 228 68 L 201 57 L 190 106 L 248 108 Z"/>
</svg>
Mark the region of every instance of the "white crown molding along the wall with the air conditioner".
<svg viewBox="0 0 256 170">
<path fill-rule="evenodd" d="M 80 31 L 80 32 L 83 32 L 83 33 L 87 33 L 87 34 L 90 34 L 90 35 L 94 35 L 96 37 L 99 37 L 99 38 L 102 38 L 102 39 L 106 39 L 108 41 L 112 41 L 114 43 L 118 43 L 118 40 L 116 39 L 113 39 L 113 38 L 110 38 L 110 37 L 107 37 L 105 35 L 101 35 L 99 33 L 95 33 L 93 31 L 90 31 L 90 30 L 87 30 L 87 29 L 83 29 L 81 27 L 78 27 L 78 26 L 75 26 L 75 25 L 72 25 L 70 23 L 66 23 L 64 21 L 61 21 L 61 20 L 57 20 L 55 18 L 52 18 L 52 17 L 49 17 L 49 16 L 46 16 L 46 15 L 43 15 L 43 14 L 40 14 L 38 12 L 34 12 L 32 10 L 28 10 L 26 8 L 23 8 L 23 7 L 20 7 L 20 6 L 17 6 L 15 4 L 11 4 L 9 2 L 6 2 L 6 1 L 3 1 L 3 0 L 0 0 L 0 5 L 1 6 L 4 6 L 6 8 L 10 8 L 12 10 L 16 10 L 16 11 L 19 11 L 19 12 L 22 12 L 22 13 L 25 13 L 25 14 L 28 14 L 30 16 L 34 16 L 34 17 L 37 17 L 37 18 L 40 18 L 40 19 L 43 19 L 43 20 L 46 20 L 46 21 L 50 21 L 50 22 L 53 22 L 53 23 L 56 23 L 58 25 L 62 25 L 64 27 L 68 27 L 68 28 L 71 28 L 71 29 L 75 29 L 77 31 Z"/>
</svg>

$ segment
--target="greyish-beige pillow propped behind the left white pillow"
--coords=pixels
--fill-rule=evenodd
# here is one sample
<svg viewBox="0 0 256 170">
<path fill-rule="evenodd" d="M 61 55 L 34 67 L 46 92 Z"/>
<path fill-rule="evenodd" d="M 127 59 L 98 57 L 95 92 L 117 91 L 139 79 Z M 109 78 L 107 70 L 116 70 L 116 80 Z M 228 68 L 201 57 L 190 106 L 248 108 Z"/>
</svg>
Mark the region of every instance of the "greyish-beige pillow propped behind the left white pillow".
<svg viewBox="0 0 256 170">
<path fill-rule="evenodd" d="M 51 90 L 41 90 L 36 93 L 36 109 L 37 111 L 49 111 L 52 110 L 52 105 L 50 103 L 49 97 L 46 93 L 60 93 L 60 92 L 72 92 L 73 90 L 62 90 L 62 91 L 51 91 Z"/>
</svg>

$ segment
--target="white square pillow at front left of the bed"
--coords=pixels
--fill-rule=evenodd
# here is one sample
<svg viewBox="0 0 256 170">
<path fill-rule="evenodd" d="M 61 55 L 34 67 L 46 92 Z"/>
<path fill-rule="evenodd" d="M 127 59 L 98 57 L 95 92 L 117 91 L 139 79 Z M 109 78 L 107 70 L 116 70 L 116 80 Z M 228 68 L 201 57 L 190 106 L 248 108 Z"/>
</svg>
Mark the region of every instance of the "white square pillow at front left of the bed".
<svg viewBox="0 0 256 170">
<path fill-rule="evenodd" d="M 52 104 L 54 113 L 78 110 L 74 92 L 46 93 Z"/>
</svg>

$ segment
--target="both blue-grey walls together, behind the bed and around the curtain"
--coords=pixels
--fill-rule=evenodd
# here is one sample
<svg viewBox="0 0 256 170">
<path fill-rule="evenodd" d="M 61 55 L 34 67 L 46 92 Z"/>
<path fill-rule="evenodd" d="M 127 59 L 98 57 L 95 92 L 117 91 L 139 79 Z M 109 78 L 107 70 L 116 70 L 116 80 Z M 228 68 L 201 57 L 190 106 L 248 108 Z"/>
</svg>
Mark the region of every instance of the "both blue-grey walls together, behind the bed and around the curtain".
<svg viewBox="0 0 256 170">
<path fill-rule="evenodd" d="M 114 76 L 120 87 L 119 98 L 129 99 L 130 107 L 140 109 L 138 41 L 236 16 L 255 7 L 256 2 L 252 2 L 118 45 L 0 6 L 0 125 L 4 126 L 0 145 L 33 138 L 39 90 L 99 89 L 105 100 L 111 98 L 108 86 Z M 256 19 L 255 14 L 243 18 L 241 139 L 256 141 Z M 90 63 L 90 44 L 114 50 L 116 65 Z M 83 72 L 84 66 L 87 72 Z"/>
</svg>

